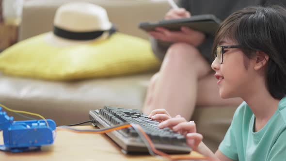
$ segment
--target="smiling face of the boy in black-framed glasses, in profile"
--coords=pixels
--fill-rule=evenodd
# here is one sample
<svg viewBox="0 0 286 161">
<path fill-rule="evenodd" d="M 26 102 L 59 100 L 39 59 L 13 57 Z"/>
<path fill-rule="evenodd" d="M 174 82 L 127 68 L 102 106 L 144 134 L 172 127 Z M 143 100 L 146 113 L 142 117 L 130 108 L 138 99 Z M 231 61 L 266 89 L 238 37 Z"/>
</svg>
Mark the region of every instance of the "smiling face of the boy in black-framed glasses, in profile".
<svg viewBox="0 0 286 161">
<path fill-rule="evenodd" d="M 229 39 L 223 39 L 219 45 L 233 46 L 238 45 Z M 223 62 L 219 63 L 216 58 L 212 65 L 215 70 L 215 77 L 218 79 L 220 97 L 243 97 L 247 95 L 252 79 L 252 68 L 250 59 L 247 58 L 240 48 L 225 48 Z"/>
</svg>

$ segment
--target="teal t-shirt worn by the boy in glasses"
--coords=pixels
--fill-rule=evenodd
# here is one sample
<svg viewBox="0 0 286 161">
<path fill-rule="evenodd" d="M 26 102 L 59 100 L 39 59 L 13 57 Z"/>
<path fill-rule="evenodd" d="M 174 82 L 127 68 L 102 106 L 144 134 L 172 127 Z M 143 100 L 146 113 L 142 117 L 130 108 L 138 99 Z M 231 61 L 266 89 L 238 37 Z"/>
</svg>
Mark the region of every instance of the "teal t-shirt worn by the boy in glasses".
<svg viewBox="0 0 286 161">
<path fill-rule="evenodd" d="M 255 116 L 242 102 L 219 150 L 234 161 L 286 161 L 286 97 L 267 124 L 254 132 Z"/>
</svg>

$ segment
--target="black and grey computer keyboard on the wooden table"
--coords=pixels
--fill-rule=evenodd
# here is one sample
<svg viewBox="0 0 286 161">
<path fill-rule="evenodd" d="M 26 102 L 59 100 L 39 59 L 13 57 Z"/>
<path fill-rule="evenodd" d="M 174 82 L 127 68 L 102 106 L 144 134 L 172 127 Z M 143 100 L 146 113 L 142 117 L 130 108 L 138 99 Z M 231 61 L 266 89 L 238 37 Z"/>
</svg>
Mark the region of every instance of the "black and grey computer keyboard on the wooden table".
<svg viewBox="0 0 286 161">
<path fill-rule="evenodd" d="M 149 119 L 144 113 L 135 109 L 124 109 L 105 106 L 104 109 L 89 112 L 95 119 L 93 126 L 109 128 L 118 124 L 139 124 L 150 137 L 155 147 L 169 154 L 187 154 L 191 148 L 186 144 L 186 138 L 170 128 L 159 129 L 159 122 Z M 132 127 L 108 132 L 107 135 L 122 148 L 124 153 L 146 153 L 148 149 L 138 133 Z"/>
</svg>

